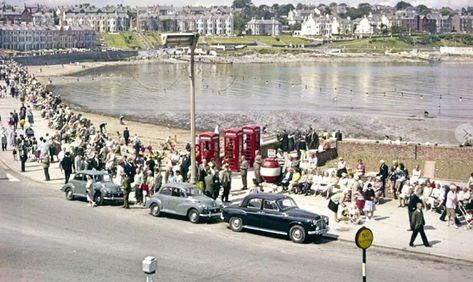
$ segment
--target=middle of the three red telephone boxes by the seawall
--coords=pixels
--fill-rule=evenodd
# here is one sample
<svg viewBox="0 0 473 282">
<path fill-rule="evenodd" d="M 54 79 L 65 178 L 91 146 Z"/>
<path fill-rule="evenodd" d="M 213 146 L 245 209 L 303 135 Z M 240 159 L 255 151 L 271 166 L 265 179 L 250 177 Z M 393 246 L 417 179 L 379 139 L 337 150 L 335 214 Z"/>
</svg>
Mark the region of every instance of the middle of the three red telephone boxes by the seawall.
<svg viewBox="0 0 473 282">
<path fill-rule="evenodd" d="M 224 133 L 224 158 L 231 171 L 240 170 L 240 158 L 243 154 L 243 131 L 229 128 Z"/>
</svg>

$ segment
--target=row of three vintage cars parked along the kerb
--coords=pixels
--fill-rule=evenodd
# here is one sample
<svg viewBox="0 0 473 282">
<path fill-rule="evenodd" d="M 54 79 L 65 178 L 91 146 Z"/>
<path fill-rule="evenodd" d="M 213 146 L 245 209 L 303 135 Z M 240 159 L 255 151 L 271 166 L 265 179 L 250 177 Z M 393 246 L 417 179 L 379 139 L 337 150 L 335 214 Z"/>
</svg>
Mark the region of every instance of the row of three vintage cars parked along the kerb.
<svg viewBox="0 0 473 282">
<path fill-rule="evenodd" d="M 87 175 L 94 179 L 94 201 L 98 205 L 105 201 L 123 201 L 120 186 L 107 173 L 91 170 L 78 172 L 61 188 L 66 199 L 86 197 Z M 250 194 L 241 204 L 224 207 L 205 196 L 195 185 L 168 183 L 145 203 L 145 208 L 155 217 L 163 213 L 175 214 L 187 217 L 192 223 L 223 219 L 235 232 L 249 229 L 287 235 L 295 243 L 302 243 L 309 236 L 324 235 L 329 230 L 327 216 L 300 209 L 284 194 Z"/>
</svg>

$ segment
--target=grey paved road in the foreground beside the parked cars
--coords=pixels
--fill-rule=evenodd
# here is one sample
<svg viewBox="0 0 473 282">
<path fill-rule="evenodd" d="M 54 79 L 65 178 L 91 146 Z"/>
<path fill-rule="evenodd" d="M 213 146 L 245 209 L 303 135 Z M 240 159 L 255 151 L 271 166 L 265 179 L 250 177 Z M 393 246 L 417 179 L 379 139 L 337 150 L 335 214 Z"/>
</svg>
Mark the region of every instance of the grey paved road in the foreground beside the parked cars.
<svg viewBox="0 0 473 282">
<path fill-rule="evenodd" d="M 351 243 L 297 245 L 284 237 L 234 233 L 223 223 L 153 218 L 138 208 L 90 208 L 66 201 L 59 187 L 11 176 L 0 179 L 0 281 L 144 281 L 141 260 L 147 255 L 158 258 L 159 281 L 360 279 L 361 253 Z M 368 251 L 371 281 L 470 281 L 472 266 Z"/>
</svg>

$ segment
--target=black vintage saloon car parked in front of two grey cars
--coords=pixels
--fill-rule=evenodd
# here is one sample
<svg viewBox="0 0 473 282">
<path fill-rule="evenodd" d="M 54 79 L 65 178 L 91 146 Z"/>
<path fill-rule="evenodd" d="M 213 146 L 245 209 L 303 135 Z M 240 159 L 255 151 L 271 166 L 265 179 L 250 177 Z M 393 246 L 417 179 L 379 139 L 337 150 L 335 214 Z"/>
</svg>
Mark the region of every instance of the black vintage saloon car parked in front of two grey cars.
<svg viewBox="0 0 473 282">
<path fill-rule="evenodd" d="M 283 194 L 250 194 L 239 206 L 224 208 L 223 219 L 233 231 L 246 228 L 289 235 L 295 243 L 329 230 L 327 216 L 302 210 L 291 197 Z"/>
</svg>

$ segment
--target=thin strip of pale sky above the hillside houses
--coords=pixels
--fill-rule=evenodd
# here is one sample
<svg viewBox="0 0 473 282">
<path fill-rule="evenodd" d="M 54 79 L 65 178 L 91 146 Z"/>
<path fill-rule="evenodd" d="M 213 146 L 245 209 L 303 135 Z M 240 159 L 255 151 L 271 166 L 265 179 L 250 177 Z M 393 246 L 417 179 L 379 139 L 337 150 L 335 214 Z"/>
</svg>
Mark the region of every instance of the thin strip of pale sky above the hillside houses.
<svg viewBox="0 0 473 282">
<path fill-rule="evenodd" d="M 51 6 L 63 5 L 63 4 L 78 4 L 78 3 L 91 3 L 97 6 L 105 6 L 107 4 L 117 4 L 122 3 L 130 6 L 148 6 L 154 4 L 162 5 L 174 5 L 174 6 L 184 6 L 184 5 L 231 5 L 233 0 L 5 0 L 10 4 L 34 4 L 34 3 L 44 3 Z M 331 2 L 337 3 L 346 3 L 348 5 L 358 5 L 359 3 L 371 3 L 371 4 L 390 4 L 395 5 L 399 0 L 344 0 L 344 1 L 315 1 L 315 0 L 252 0 L 255 5 L 272 5 L 274 3 L 278 4 L 293 4 L 294 6 L 297 3 L 303 4 L 329 4 Z M 424 4 L 428 7 L 441 8 L 449 6 L 452 8 L 462 8 L 467 6 L 473 6 L 473 0 L 404 0 L 413 5 Z"/>
</svg>

